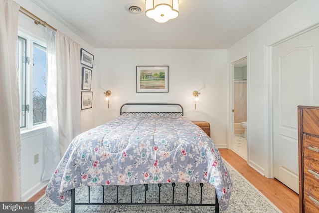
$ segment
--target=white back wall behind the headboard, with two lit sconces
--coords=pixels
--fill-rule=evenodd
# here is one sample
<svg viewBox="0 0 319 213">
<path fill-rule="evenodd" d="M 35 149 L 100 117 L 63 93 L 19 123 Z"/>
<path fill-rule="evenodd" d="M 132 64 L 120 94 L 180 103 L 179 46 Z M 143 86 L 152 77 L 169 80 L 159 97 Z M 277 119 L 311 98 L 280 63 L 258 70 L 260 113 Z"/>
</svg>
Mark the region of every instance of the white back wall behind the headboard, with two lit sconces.
<svg viewBox="0 0 319 213">
<path fill-rule="evenodd" d="M 119 116 L 124 103 L 179 103 L 190 120 L 206 120 L 218 147 L 227 146 L 227 50 L 95 49 L 94 124 Z M 137 93 L 137 65 L 168 65 L 168 93 Z M 111 90 L 110 108 L 103 92 Z M 195 110 L 192 92 L 198 90 Z"/>
</svg>

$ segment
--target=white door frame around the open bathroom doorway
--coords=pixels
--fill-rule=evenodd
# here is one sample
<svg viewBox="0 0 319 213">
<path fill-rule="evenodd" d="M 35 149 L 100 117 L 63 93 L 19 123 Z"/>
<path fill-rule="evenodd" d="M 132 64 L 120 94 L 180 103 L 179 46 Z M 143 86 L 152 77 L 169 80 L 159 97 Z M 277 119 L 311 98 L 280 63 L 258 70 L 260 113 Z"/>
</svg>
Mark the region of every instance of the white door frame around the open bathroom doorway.
<svg viewBox="0 0 319 213">
<path fill-rule="evenodd" d="M 234 65 L 235 63 L 247 59 L 247 123 L 249 123 L 249 52 L 228 63 L 228 110 L 227 110 L 227 148 L 234 148 Z M 247 162 L 249 162 L 249 125 L 247 126 Z"/>
</svg>

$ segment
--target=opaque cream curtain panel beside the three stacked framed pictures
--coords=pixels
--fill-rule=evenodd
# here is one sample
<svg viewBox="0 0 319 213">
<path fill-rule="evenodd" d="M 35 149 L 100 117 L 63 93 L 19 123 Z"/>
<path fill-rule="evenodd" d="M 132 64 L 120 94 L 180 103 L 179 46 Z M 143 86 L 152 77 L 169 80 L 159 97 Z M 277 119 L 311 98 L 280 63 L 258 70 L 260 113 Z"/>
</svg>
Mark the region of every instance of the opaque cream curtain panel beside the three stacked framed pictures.
<svg viewBox="0 0 319 213">
<path fill-rule="evenodd" d="M 81 132 L 80 45 L 56 31 L 57 109 L 60 158 Z"/>
</svg>

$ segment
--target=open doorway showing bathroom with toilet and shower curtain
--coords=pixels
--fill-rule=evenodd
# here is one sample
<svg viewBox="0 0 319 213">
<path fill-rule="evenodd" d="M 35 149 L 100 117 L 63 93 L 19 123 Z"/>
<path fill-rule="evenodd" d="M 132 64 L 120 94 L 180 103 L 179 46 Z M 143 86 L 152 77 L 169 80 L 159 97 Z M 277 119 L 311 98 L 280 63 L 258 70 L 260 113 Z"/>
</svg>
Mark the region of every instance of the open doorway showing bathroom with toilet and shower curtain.
<svg viewBox="0 0 319 213">
<path fill-rule="evenodd" d="M 247 57 L 233 63 L 233 141 L 232 151 L 248 160 L 247 140 Z"/>
</svg>

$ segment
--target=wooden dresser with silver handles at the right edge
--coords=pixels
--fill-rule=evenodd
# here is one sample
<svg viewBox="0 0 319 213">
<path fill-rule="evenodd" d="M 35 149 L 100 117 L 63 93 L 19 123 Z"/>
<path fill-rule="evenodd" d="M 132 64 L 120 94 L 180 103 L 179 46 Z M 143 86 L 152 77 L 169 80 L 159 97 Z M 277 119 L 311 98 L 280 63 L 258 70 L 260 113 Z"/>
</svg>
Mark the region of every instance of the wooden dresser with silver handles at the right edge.
<svg viewBox="0 0 319 213">
<path fill-rule="evenodd" d="M 319 212 L 319 107 L 298 106 L 300 213 Z"/>
</svg>

